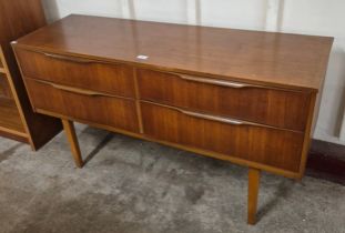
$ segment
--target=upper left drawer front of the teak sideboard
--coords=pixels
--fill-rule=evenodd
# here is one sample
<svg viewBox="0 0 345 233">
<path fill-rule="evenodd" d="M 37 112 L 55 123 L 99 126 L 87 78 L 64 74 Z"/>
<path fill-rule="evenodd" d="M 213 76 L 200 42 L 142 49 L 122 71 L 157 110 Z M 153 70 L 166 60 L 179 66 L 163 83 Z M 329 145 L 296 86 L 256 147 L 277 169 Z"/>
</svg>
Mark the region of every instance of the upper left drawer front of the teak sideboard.
<svg viewBox="0 0 345 233">
<path fill-rule="evenodd" d="M 133 98 L 133 69 L 125 64 L 17 49 L 26 77 Z"/>
</svg>

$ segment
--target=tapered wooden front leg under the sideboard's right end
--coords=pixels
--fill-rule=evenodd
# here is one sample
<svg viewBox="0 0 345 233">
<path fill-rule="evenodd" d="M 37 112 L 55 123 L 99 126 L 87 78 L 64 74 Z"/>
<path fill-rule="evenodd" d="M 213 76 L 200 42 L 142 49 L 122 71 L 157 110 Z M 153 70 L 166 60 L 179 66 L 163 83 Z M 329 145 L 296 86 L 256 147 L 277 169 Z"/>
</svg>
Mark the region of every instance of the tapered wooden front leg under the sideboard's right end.
<svg viewBox="0 0 345 233">
<path fill-rule="evenodd" d="M 260 184 L 260 173 L 257 169 L 248 171 L 248 219 L 247 223 L 254 225 L 256 223 L 257 194 Z"/>
</svg>

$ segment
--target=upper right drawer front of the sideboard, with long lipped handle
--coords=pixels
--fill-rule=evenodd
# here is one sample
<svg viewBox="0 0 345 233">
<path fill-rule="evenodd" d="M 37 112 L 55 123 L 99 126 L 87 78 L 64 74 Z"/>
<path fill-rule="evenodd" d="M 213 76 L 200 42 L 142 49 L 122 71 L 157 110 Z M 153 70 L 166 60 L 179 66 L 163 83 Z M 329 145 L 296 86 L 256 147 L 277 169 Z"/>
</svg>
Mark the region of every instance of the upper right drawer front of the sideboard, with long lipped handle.
<svg viewBox="0 0 345 233">
<path fill-rule="evenodd" d="M 144 69 L 138 70 L 138 80 L 143 100 L 276 128 L 305 130 L 308 93 Z"/>
</svg>

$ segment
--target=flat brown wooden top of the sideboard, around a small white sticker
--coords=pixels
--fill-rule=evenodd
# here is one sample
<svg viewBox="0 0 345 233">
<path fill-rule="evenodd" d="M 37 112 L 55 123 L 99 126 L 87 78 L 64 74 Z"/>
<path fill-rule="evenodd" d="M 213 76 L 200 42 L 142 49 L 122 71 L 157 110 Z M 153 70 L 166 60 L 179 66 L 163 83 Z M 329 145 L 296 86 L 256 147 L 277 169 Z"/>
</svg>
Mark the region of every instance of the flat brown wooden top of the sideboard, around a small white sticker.
<svg viewBox="0 0 345 233">
<path fill-rule="evenodd" d="M 45 52 L 317 91 L 333 38 L 72 14 L 17 42 Z"/>
</svg>

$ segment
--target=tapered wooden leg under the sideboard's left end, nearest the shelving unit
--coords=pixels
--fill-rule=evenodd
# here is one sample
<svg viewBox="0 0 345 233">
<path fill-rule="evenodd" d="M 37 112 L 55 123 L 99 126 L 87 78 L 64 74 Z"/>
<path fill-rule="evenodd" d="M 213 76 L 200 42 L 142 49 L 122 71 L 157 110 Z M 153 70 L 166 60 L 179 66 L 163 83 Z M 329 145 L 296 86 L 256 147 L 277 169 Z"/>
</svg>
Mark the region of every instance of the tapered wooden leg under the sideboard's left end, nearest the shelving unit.
<svg viewBox="0 0 345 233">
<path fill-rule="evenodd" d="M 62 119 L 62 124 L 63 124 L 63 129 L 64 129 L 65 135 L 67 135 L 67 138 L 68 138 L 68 140 L 70 142 L 70 145 L 71 145 L 72 155 L 74 158 L 75 165 L 78 168 L 82 168 L 83 166 L 83 161 L 82 161 L 82 158 L 81 158 L 78 139 L 77 139 L 77 135 L 75 135 L 75 129 L 74 129 L 73 121 L 69 121 L 69 120 Z"/>
</svg>

